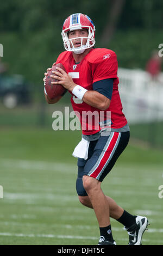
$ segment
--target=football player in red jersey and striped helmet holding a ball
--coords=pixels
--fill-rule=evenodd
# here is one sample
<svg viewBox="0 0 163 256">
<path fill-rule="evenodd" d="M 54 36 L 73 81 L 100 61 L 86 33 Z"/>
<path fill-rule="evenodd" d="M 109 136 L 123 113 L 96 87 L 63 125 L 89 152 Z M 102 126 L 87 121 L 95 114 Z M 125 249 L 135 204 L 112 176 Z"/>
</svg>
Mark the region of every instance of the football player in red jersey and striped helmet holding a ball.
<svg viewBox="0 0 163 256">
<path fill-rule="evenodd" d="M 95 48 L 95 26 L 84 14 L 69 16 L 61 35 L 66 51 L 59 55 L 57 63 L 64 65 L 67 72 L 57 68 L 60 72 L 53 71 L 51 77 L 59 80 L 52 83 L 62 84 L 71 93 L 72 107 L 82 125 L 82 141 L 73 154 L 78 157 L 76 189 L 79 201 L 95 211 L 100 230 L 98 245 L 116 245 L 110 217 L 124 225 L 129 245 L 140 245 L 148 225 L 147 217 L 129 214 L 101 189 L 101 182 L 126 148 L 130 133 L 118 93 L 116 53 Z M 61 98 L 49 99 L 46 90 L 45 97 L 48 103 L 56 103 Z M 84 119 L 83 113 L 95 111 L 99 115 L 104 113 L 102 126 L 95 120 L 89 123 Z M 105 129 L 107 112 L 111 112 L 109 133 Z"/>
</svg>

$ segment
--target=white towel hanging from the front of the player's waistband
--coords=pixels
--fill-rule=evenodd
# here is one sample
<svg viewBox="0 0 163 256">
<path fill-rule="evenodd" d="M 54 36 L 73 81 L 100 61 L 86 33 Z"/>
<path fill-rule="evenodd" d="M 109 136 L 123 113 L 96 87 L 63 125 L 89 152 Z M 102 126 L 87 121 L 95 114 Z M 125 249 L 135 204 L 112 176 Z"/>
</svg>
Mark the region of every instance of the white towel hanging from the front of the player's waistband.
<svg viewBox="0 0 163 256">
<path fill-rule="evenodd" d="M 89 141 L 86 141 L 86 139 L 82 138 L 82 141 L 79 142 L 77 147 L 74 149 L 72 155 L 74 157 L 83 158 L 84 160 L 87 159 L 87 154 L 89 150 Z"/>
</svg>

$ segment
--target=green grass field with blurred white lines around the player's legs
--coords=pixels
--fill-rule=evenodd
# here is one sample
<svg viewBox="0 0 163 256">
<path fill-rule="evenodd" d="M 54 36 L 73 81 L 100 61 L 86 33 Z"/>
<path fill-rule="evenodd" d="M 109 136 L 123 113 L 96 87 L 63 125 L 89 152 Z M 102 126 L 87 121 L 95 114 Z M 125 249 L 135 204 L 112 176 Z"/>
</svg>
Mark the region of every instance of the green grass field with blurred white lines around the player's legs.
<svg viewBox="0 0 163 256">
<path fill-rule="evenodd" d="M 95 214 L 76 194 L 72 151 L 79 140 L 80 132 L 1 129 L 1 245 L 97 245 Z M 124 209 L 149 218 L 143 245 L 163 245 L 162 166 L 161 151 L 130 143 L 102 184 Z M 123 226 L 111 225 L 117 245 L 127 245 Z"/>
</svg>

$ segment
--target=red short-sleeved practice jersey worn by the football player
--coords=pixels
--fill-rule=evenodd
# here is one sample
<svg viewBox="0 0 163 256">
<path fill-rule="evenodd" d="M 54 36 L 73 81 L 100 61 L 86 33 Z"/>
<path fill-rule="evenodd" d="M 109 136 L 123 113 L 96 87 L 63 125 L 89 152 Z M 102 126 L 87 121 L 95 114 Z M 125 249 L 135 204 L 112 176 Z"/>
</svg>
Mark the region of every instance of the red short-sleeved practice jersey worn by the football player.
<svg viewBox="0 0 163 256">
<path fill-rule="evenodd" d="M 76 64 L 72 52 L 65 51 L 59 55 L 57 63 L 64 65 L 67 73 L 73 78 L 74 83 L 87 90 L 93 90 L 92 84 L 94 82 L 114 78 L 110 106 L 103 111 L 104 120 L 107 118 L 106 112 L 110 111 L 112 129 L 119 129 L 127 124 L 127 119 L 122 112 L 122 103 L 118 92 L 118 63 L 115 52 L 106 48 L 92 48 L 83 60 L 79 64 Z M 99 126 L 99 121 L 94 118 L 92 122 L 89 122 L 85 113 L 96 112 L 99 113 L 100 116 L 101 110 L 88 105 L 74 96 L 72 92 L 70 93 L 72 95 L 72 107 L 80 119 L 83 134 L 91 135 L 100 131 L 101 127 Z M 82 120 L 82 117 L 84 117 L 84 121 Z"/>
</svg>

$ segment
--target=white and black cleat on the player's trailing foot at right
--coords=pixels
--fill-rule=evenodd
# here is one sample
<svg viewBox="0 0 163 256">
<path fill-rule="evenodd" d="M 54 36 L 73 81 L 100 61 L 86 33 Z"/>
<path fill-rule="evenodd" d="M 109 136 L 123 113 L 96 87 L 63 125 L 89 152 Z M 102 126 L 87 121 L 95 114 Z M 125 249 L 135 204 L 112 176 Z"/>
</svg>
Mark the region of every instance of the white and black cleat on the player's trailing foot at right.
<svg viewBox="0 0 163 256">
<path fill-rule="evenodd" d="M 142 235 L 148 225 L 149 223 L 146 217 L 137 216 L 133 225 L 124 227 L 124 230 L 127 230 L 129 234 L 128 245 L 141 245 Z"/>
</svg>

